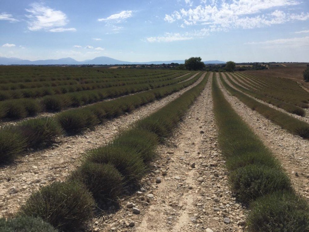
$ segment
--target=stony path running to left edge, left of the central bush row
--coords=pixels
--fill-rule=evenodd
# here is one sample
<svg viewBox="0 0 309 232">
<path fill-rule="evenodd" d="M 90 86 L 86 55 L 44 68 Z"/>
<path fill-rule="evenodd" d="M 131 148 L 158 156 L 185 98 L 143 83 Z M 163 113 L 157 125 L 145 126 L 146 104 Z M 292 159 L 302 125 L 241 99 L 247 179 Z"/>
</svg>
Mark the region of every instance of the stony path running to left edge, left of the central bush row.
<svg viewBox="0 0 309 232">
<path fill-rule="evenodd" d="M 0 169 L 0 217 L 12 216 L 32 191 L 55 180 L 64 180 L 80 162 L 83 152 L 104 145 L 116 133 L 133 122 L 145 118 L 201 82 L 206 73 L 193 85 L 159 101 L 144 105 L 130 114 L 122 115 L 74 137 L 61 137 L 53 148 L 21 157 L 14 164 Z"/>
</svg>

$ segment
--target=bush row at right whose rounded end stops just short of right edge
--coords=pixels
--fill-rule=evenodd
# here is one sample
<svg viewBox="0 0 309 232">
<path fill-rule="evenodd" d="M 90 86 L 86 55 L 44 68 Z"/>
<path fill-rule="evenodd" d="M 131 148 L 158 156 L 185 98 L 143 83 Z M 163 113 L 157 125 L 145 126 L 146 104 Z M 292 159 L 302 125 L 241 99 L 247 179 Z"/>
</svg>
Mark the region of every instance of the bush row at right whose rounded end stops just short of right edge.
<svg viewBox="0 0 309 232">
<path fill-rule="evenodd" d="M 228 79 L 228 81 L 234 87 L 238 88 L 239 90 L 241 90 L 244 93 L 251 95 L 252 97 L 255 97 L 255 98 L 260 99 L 262 101 L 266 101 L 267 103 L 275 105 L 275 106 L 277 106 L 277 107 L 279 107 L 283 110 L 286 110 L 287 112 L 289 112 L 291 114 L 297 114 L 297 115 L 302 116 L 302 117 L 306 115 L 305 110 L 303 110 L 302 108 L 300 108 L 296 105 L 292 105 L 292 104 L 286 103 L 284 101 L 280 101 L 280 100 L 277 100 L 277 99 L 274 99 L 274 98 L 271 98 L 271 97 L 267 97 L 267 96 L 260 94 L 258 92 L 254 92 L 250 89 L 243 88 L 241 85 L 235 83 L 228 75 L 226 75 L 226 78 Z M 234 78 L 235 78 L 235 76 L 234 76 Z"/>
</svg>

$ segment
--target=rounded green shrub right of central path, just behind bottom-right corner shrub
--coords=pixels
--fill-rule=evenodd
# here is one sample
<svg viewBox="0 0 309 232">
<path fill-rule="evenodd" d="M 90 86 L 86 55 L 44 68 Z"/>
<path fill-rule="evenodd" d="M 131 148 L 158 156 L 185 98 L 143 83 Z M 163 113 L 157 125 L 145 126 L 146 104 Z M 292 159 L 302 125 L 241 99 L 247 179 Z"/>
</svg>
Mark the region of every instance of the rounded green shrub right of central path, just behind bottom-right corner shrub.
<svg viewBox="0 0 309 232">
<path fill-rule="evenodd" d="M 290 190 L 290 179 L 281 170 L 262 165 L 247 165 L 230 176 L 233 192 L 239 201 L 251 200 L 279 190 Z"/>
</svg>

